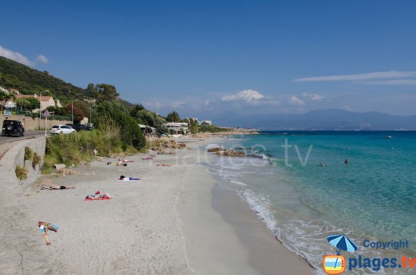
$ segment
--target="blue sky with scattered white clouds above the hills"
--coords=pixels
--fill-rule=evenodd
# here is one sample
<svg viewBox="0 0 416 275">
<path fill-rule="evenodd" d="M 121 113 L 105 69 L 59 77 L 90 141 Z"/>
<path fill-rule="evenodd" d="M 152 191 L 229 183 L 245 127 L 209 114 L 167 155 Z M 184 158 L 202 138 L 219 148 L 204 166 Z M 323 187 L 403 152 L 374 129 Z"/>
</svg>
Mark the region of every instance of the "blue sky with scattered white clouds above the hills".
<svg viewBox="0 0 416 275">
<path fill-rule="evenodd" d="M 416 114 L 416 1 L 8 1 L 0 55 L 166 115 Z"/>
</svg>

